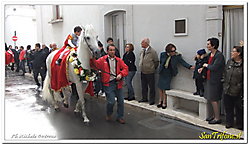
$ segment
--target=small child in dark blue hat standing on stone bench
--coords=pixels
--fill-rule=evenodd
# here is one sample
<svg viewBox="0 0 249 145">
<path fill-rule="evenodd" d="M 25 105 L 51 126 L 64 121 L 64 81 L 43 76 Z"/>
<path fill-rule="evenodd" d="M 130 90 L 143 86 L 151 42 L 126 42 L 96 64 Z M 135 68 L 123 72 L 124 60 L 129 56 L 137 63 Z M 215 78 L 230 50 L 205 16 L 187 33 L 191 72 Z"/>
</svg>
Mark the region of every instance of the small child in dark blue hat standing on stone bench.
<svg viewBox="0 0 249 145">
<path fill-rule="evenodd" d="M 195 70 L 193 74 L 193 79 L 195 79 L 196 92 L 193 95 L 204 96 L 204 86 L 203 83 L 205 81 L 205 71 L 202 73 L 198 73 L 198 69 L 202 68 L 203 64 L 207 63 L 207 53 L 205 49 L 200 49 L 197 51 L 197 55 L 195 56 Z"/>
</svg>

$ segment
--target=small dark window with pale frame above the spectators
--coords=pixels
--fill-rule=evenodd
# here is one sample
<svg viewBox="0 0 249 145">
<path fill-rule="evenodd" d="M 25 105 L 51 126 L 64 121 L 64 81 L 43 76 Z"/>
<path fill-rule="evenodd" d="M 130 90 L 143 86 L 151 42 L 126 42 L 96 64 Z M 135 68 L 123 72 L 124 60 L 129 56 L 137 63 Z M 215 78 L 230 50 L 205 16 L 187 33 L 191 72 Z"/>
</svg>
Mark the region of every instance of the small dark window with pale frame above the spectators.
<svg viewBox="0 0 249 145">
<path fill-rule="evenodd" d="M 175 19 L 174 20 L 174 35 L 175 36 L 186 36 L 187 33 L 187 19 Z"/>
</svg>

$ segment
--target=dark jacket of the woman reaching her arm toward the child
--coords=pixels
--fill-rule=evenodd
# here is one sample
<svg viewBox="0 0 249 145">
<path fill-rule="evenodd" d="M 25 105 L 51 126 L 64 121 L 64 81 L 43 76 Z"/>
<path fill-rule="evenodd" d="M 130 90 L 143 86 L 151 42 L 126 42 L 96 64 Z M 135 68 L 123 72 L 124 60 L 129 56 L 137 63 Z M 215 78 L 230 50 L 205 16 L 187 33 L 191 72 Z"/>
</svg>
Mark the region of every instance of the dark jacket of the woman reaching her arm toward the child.
<svg viewBox="0 0 249 145">
<path fill-rule="evenodd" d="M 166 52 L 162 52 L 161 55 L 160 55 L 160 66 L 159 66 L 159 73 L 165 69 L 165 62 L 166 60 L 168 59 L 169 55 L 166 53 Z M 190 69 L 191 65 L 188 64 L 187 62 L 185 62 L 183 59 L 182 59 L 182 55 L 180 53 L 176 53 L 176 55 L 173 55 L 171 56 L 171 60 L 170 60 L 170 63 L 169 63 L 169 67 L 168 68 L 171 68 L 171 73 L 172 73 L 172 76 L 176 76 L 178 74 L 178 68 L 177 68 L 177 65 L 178 64 L 181 64 L 182 66 Z"/>
</svg>

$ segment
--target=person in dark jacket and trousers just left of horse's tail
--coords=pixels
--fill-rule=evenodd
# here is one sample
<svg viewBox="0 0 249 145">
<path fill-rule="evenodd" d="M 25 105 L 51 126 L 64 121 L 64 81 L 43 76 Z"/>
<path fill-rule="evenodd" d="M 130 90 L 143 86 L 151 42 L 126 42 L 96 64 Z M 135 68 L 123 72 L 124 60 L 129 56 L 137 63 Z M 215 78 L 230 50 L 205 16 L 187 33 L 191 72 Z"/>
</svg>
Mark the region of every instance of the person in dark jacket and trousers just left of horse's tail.
<svg viewBox="0 0 249 145">
<path fill-rule="evenodd" d="M 31 55 L 33 65 L 34 80 L 37 85 L 37 90 L 42 86 L 46 76 L 46 56 L 47 54 L 41 49 L 40 43 L 35 44 L 35 52 Z M 38 80 L 38 75 L 41 75 L 42 84 Z"/>
</svg>

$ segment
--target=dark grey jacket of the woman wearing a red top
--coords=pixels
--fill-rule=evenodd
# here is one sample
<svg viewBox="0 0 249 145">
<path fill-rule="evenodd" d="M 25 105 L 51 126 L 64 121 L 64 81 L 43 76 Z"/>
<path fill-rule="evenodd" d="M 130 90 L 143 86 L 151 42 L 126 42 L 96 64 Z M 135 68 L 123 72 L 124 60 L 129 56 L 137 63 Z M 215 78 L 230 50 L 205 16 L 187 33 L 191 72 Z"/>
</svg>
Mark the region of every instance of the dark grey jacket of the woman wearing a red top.
<svg viewBox="0 0 249 145">
<path fill-rule="evenodd" d="M 208 54 L 208 60 L 211 56 L 211 53 Z M 221 82 L 223 72 L 225 68 L 225 58 L 224 55 L 217 50 L 211 64 L 207 66 L 207 69 L 210 70 L 210 82 L 211 84 L 217 85 Z"/>
</svg>

